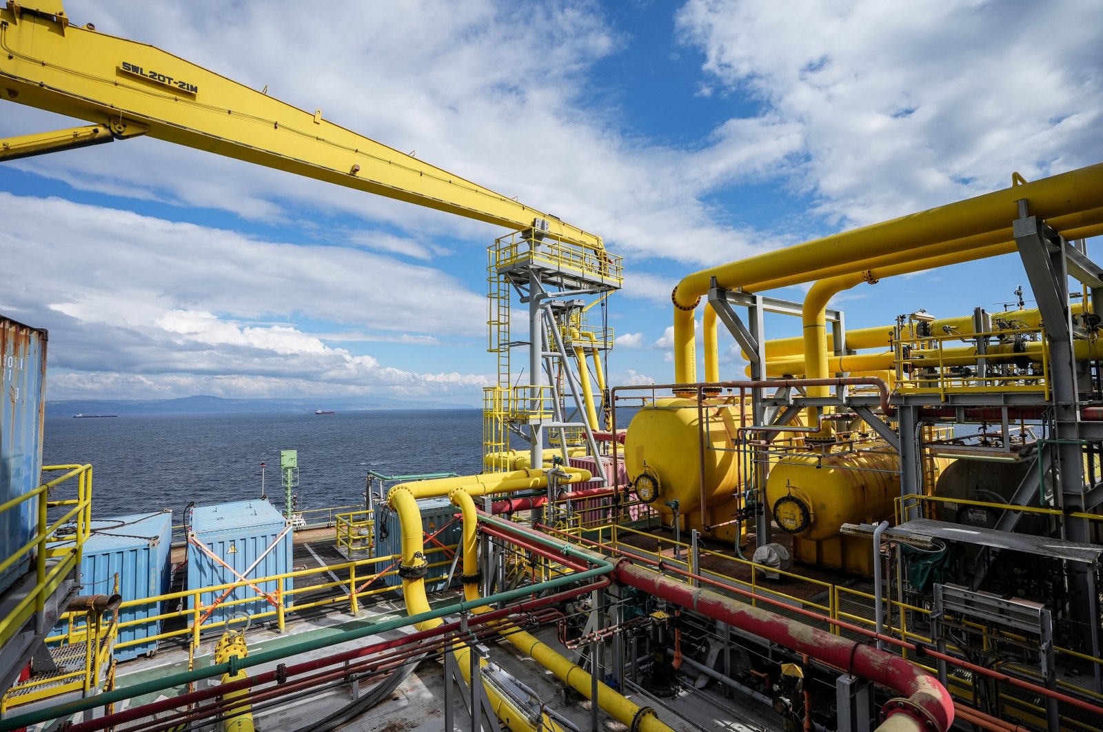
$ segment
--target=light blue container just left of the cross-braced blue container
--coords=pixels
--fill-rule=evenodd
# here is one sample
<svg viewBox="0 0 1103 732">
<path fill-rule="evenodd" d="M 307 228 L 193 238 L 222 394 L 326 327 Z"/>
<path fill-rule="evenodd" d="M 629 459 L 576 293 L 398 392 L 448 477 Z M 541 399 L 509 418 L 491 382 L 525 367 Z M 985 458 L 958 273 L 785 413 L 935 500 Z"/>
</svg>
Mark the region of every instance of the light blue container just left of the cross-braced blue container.
<svg viewBox="0 0 1103 732">
<path fill-rule="evenodd" d="M 92 535 L 81 559 L 81 594 L 111 594 L 116 575 L 124 602 L 167 594 L 172 581 L 171 550 L 171 510 L 93 519 Z M 156 617 L 161 614 L 161 606 L 158 601 L 124 607 L 119 611 L 119 623 Z M 150 621 L 120 629 L 115 657 L 130 660 L 150 655 L 157 650 L 157 640 L 143 639 L 157 635 L 160 628 L 161 621 Z M 58 624 L 51 635 L 66 629 L 64 623 Z M 135 640 L 140 643 L 118 647 Z"/>
</svg>

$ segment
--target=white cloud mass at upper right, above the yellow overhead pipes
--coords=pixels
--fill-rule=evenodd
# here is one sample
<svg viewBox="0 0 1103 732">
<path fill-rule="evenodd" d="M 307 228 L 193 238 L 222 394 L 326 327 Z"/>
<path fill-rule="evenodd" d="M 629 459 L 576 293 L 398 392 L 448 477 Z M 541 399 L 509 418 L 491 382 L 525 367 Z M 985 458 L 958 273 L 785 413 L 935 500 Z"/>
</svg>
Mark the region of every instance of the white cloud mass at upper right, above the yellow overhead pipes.
<svg viewBox="0 0 1103 732">
<path fill-rule="evenodd" d="M 1085 11 L 689 0 L 677 18 L 710 79 L 760 104 L 738 121 L 799 138 L 795 185 L 849 226 L 1103 158 L 1103 25 Z M 1039 53 L 1039 37 L 1061 42 Z"/>
</svg>

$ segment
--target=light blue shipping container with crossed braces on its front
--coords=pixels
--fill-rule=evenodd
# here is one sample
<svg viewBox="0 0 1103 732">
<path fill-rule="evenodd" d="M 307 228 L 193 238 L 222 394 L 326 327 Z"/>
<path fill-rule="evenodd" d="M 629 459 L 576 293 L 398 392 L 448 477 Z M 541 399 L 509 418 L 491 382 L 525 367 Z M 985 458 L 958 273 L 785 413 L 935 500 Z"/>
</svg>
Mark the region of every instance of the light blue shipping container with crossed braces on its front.
<svg viewBox="0 0 1103 732">
<path fill-rule="evenodd" d="M 202 543 L 206 550 L 195 546 L 195 542 Z M 215 560 L 212 553 L 218 559 Z M 233 568 L 233 571 L 223 562 Z M 291 531 L 283 515 L 267 500 L 238 500 L 192 509 L 188 545 L 189 590 L 238 582 L 242 578 L 256 580 L 290 571 Z M 200 595 L 204 607 L 210 607 L 222 599 L 205 624 L 224 622 L 237 612 L 253 615 L 275 610 L 257 590 L 278 602 L 280 594 L 290 591 L 291 586 L 291 578 L 286 578 L 259 582 L 256 589 L 251 585 L 236 588 L 228 594 L 225 590 L 204 592 Z M 255 600 L 229 606 L 225 604 L 246 599 Z M 191 601 L 189 606 L 192 606 Z M 290 598 L 286 598 L 283 606 L 291 606 Z"/>
</svg>

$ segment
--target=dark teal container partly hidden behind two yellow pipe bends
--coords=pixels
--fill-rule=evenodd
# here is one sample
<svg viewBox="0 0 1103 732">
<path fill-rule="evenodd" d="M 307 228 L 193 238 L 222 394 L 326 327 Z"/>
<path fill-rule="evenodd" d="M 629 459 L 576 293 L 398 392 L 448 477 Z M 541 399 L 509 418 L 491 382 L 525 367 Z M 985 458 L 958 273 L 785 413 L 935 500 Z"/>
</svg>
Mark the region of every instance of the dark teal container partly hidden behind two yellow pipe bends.
<svg viewBox="0 0 1103 732">
<path fill-rule="evenodd" d="M 426 574 L 426 592 L 440 592 L 445 589 L 445 580 L 456 556 L 456 546 L 463 534 L 463 521 L 457 516 L 459 508 L 448 498 L 425 498 L 417 502 L 421 509 L 421 530 L 425 541 L 425 556 L 428 560 L 429 573 Z M 388 509 L 386 504 L 379 504 L 375 516 L 376 557 L 387 557 L 403 553 L 401 529 L 398 527 L 398 515 Z M 438 534 L 439 531 L 439 534 Z M 429 537 L 436 535 L 433 539 Z M 448 547 L 445 550 L 443 547 Z M 442 563 L 441 563 L 442 562 Z M 440 564 L 432 567 L 432 564 Z M 382 571 L 385 566 L 381 566 Z M 397 569 L 396 563 L 394 569 Z M 457 564 L 456 577 L 460 575 Z M 397 574 L 383 578 L 387 586 L 398 586 L 403 580 Z"/>
</svg>

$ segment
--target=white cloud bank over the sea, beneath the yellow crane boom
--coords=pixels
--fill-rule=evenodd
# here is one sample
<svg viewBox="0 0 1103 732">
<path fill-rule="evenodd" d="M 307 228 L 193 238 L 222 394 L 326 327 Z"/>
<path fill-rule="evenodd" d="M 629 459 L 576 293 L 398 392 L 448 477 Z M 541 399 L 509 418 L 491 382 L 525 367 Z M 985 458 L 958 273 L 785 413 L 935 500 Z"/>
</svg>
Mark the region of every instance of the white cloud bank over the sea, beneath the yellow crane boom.
<svg viewBox="0 0 1103 732">
<path fill-rule="evenodd" d="M 51 385 L 51 398 L 201 387 L 267 395 L 304 384 L 472 395 L 488 384 L 476 374 L 396 368 L 291 323 L 308 312 L 326 330 L 356 329 L 350 343 L 439 344 L 418 333 L 430 331 L 463 347 L 465 336 L 482 335 L 484 298 L 438 270 L 56 198 L 0 192 L 0 206 L 21 212 L 0 233 L 6 258 L 19 262 L 4 309 L 49 327 L 52 369 L 72 372 Z M 399 286 L 418 281 L 431 281 L 437 297 Z M 378 333 L 363 333 L 365 324 Z"/>
</svg>

